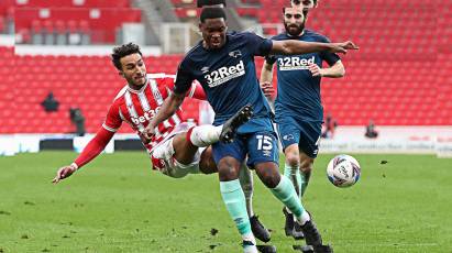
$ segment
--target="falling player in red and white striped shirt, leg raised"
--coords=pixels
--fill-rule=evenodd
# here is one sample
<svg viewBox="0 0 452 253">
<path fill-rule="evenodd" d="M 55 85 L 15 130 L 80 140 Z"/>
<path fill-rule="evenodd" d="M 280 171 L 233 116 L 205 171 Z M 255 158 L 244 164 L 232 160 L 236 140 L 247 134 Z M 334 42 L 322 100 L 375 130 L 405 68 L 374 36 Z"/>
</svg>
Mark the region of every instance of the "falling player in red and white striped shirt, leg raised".
<svg viewBox="0 0 452 253">
<path fill-rule="evenodd" d="M 202 153 L 199 152 L 198 147 L 209 146 L 218 142 L 220 135 L 224 138 L 224 133 L 231 135 L 233 132 L 224 132 L 222 125 L 190 127 L 184 122 L 184 114 L 181 110 L 178 110 L 174 117 L 158 124 L 156 128 L 157 134 L 151 140 L 146 139 L 142 131 L 158 111 L 165 98 L 172 92 L 174 76 L 164 74 L 146 75 L 146 67 L 140 47 L 132 43 L 115 47 L 112 62 L 119 74 L 128 81 L 128 85 L 114 98 L 106 121 L 95 138 L 74 163 L 58 169 L 53 183 L 69 177 L 98 156 L 122 125 L 122 122 L 126 122 L 139 134 L 143 145 L 150 153 L 154 169 L 170 177 L 184 177 L 187 174 L 199 172 L 205 174 L 216 173 L 217 165 L 212 158 L 211 147 L 207 147 Z M 202 87 L 198 82 L 192 84 L 187 96 L 206 99 Z M 247 200 L 250 220 L 256 232 L 260 233 L 256 237 L 262 241 L 268 241 L 268 231 L 253 213 L 252 175 L 249 169 L 242 169 L 242 172 L 241 184 Z M 263 235 L 260 237 L 261 234 Z"/>
</svg>

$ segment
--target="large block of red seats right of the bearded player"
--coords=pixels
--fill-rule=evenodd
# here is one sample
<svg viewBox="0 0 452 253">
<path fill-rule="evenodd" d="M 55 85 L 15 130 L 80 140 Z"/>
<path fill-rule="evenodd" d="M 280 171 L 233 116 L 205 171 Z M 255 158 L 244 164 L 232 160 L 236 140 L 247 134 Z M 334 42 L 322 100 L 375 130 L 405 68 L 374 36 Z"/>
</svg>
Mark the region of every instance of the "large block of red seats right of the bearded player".
<svg viewBox="0 0 452 253">
<path fill-rule="evenodd" d="M 260 2 L 275 10 L 257 12 L 260 22 L 280 22 L 286 1 Z M 345 78 L 323 80 L 326 111 L 343 125 L 364 125 L 368 119 L 383 125 L 452 124 L 452 69 L 441 65 L 450 54 L 451 7 L 407 0 L 322 1 L 307 26 L 361 46 L 344 57 Z"/>
</svg>

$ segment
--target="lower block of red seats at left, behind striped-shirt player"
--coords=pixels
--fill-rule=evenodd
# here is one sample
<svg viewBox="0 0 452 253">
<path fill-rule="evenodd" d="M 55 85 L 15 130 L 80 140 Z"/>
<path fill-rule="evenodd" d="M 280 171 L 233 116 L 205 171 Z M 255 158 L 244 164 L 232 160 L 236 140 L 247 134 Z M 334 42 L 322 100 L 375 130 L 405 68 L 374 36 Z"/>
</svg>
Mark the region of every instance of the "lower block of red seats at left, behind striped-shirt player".
<svg viewBox="0 0 452 253">
<path fill-rule="evenodd" d="M 1 47 L 0 47 L 1 48 Z M 175 64 L 181 56 L 147 57 L 152 73 L 174 74 Z M 8 59 L 4 59 L 8 61 Z M 15 62 L 15 88 L 21 90 L 11 96 L 18 105 L 12 119 L 15 132 L 21 133 L 69 133 L 74 125 L 69 121 L 69 108 L 78 107 L 86 117 L 87 132 L 96 132 L 103 122 L 108 107 L 125 85 L 107 56 L 19 56 Z M 45 96 L 53 91 L 60 102 L 57 112 L 47 113 L 41 107 Z M 5 105 L 3 105 L 5 106 Z M 187 119 L 198 120 L 198 102 L 184 105 Z M 12 129 L 3 129 L 2 133 Z M 121 132 L 131 132 L 122 128 Z"/>
</svg>

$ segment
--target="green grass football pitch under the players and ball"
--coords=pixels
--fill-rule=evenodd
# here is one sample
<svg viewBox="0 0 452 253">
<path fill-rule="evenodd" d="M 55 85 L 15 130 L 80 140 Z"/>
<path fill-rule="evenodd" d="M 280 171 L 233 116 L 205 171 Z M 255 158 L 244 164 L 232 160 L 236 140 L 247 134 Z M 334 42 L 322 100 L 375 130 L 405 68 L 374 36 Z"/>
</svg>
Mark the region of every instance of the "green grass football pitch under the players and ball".
<svg viewBox="0 0 452 253">
<path fill-rule="evenodd" d="M 119 152 L 52 185 L 75 156 L 0 157 L 0 252 L 241 251 L 217 175 L 173 179 L 144 152 Z M 340 189 L 326 177 L 332 156 L 316 161 L 304 204 L 335 252 L 452 252 L 452 160 L 355 155 L 362 177 Z M 254 210 L 278 252 L 304 243 L 284 237 L 282 205 L 257 177 Z"/>
</svg>

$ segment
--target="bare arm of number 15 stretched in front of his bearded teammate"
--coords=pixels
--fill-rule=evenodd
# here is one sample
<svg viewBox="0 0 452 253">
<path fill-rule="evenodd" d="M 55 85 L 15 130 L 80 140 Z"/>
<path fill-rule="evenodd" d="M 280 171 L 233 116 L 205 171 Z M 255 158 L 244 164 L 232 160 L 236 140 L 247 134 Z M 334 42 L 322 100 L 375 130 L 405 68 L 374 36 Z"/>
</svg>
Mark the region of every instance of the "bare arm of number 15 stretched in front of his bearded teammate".
<svg viewBox="0 0 452 253">
<path fill-rule="evenodd" d="M 269 54 L 274 55 L 300 55 L 316 52 L 328 51 L 331 53 L 345 54 L 349 50 L 359 50 L 353 42 L 341 43 L 319 43 L 319 42 L 302 42 L 296 40 L 273 41 L 273 46 Z"/>
</svg>

